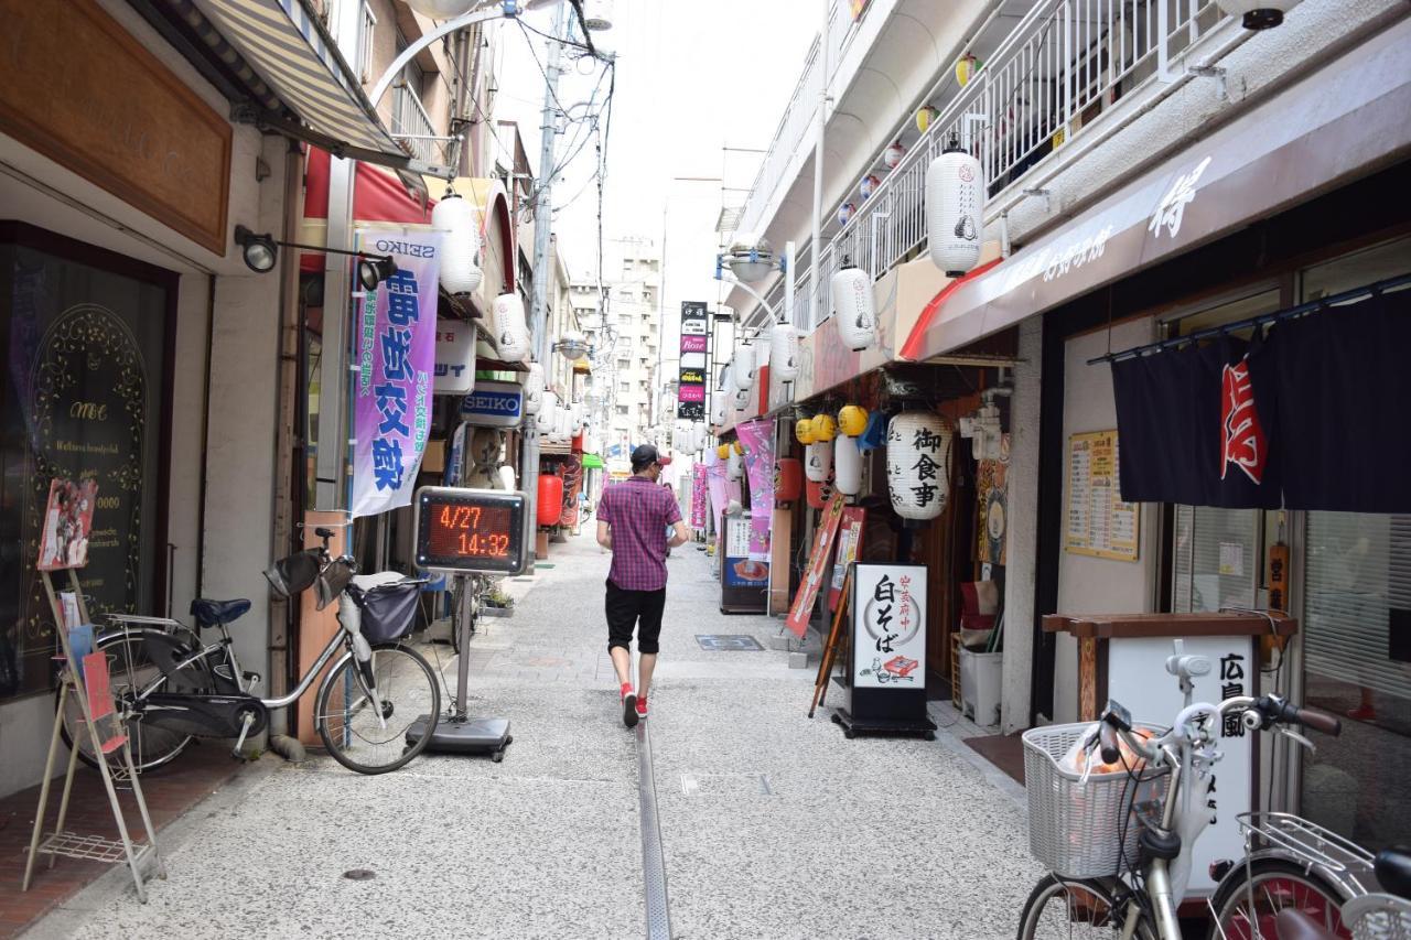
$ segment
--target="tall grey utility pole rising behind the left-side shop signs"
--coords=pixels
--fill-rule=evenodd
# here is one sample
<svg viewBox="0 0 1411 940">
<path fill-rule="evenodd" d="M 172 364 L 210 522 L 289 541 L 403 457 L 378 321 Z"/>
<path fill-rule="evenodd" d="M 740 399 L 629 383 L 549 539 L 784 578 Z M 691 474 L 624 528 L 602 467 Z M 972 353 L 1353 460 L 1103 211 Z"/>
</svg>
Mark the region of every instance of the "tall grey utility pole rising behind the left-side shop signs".
<svg viewBox="0 0 1411 940">
<path fill-rule="evenodd" d="M 549 231 L 553 229 L 553 151 L 559 135 L 559 73 L 563 56 L 560 40 L 567 31 L 567 3 L 553 13 L 549 40 L 549 65 L 545 69 L 543 114 L 539 120 L 539 179 L 533 209 L 533 306 L 529 312 L 529 337 L 533 358 L 549 374 Z M 571 404 L 571 401 L 569 402 Z M 521 483 L 528 495 L 525 539 L 533 550 L 539 531 L 539 430 L 535 422 L 525 422 L 521 449 Z"/>
</svg>

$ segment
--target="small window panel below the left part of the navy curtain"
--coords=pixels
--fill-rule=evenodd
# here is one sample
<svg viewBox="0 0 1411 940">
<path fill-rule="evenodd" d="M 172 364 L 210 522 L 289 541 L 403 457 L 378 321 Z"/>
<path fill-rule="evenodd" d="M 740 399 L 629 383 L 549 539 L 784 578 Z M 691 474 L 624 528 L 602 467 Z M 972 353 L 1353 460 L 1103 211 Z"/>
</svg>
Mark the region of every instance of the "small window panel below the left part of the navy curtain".
<svg viewBox="0 0 1411 940">
<path fill-rule="evenodd" d="M 1178 614 L 1253 607 L 1259 510 L 1175 507 L 1171 608 Z"/>
</svg>

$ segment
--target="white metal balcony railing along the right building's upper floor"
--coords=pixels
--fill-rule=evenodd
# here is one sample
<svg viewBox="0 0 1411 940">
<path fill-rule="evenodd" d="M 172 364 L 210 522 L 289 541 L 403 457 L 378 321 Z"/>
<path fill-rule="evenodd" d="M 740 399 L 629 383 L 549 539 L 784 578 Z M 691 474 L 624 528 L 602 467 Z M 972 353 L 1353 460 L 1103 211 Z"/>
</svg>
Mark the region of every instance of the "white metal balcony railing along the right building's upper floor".
<svg viewBox="0 0 1411 940">
<path fill-rule="evenodd" d="M 926 171 L 951 140 L 979 158 L 988 199 L 993 200 L 1222 18 L 1215 0 L 1036 3 L 824 244 L 820 263 L 810 263 L 809 272 L 800 265 L 796 322 L 804 330 L 817 326 L 807 322 L 814 284 L 817 320 L 831 315 L 828 285 L 848 261 L 876 278 L 920 253 L 926 246 Z M 782 294 L 780 281 L 766 299 L 775 303 Z"/>
</svg>

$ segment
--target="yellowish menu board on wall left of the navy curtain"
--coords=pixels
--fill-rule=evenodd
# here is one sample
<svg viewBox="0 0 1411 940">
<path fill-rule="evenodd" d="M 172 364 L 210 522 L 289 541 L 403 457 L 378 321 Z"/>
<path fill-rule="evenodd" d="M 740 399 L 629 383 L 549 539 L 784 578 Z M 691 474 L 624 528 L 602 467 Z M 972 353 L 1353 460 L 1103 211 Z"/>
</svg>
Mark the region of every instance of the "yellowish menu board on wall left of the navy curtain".
<svg viewBox="0 0 1411 940">
<path fill-rule="evenodd" d="M 1095 430 L 1068 438 L 1064 550 L 1074 555 L 1137 560 L 1140 507 L 1118 491 L 1118 432 Z"/>
</svg>

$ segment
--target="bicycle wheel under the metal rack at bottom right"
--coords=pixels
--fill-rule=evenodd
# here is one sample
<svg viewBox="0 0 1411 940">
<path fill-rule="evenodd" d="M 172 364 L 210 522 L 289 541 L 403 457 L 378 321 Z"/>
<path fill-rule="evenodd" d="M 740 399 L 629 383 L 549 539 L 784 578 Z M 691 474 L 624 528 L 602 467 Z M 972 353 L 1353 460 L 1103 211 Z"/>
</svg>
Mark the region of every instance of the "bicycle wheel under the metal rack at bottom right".
<svg viewBox="0 0 1411 940">
<path fill-rule="evenodd" d="M 1274 917 L 1284 908 L 1295 908 L 1325 930 L 1350 939 L 1352 932 L 1342 923 L 1343 900 L 1326 878 L 1294 862 L 1260 858 L 1249 869 L 1240 862 L 1215 892 L 1216 920 L 1208 936 L 1221 937 L 1223 930 L 1226 940 L 1271 940 L 1278 936 Z"/>
</svg>

